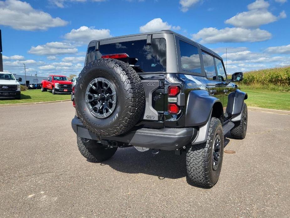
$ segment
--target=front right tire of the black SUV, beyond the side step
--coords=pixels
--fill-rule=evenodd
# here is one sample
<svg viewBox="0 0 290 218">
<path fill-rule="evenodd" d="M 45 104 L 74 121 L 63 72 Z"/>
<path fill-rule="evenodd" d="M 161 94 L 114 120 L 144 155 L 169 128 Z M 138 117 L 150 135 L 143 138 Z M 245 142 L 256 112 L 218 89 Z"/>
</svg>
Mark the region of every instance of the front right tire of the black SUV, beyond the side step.
<svg viewBox="0 0 290 218">
<path fill-rule="evenodd" d="M 247 134 L 248 126 L 248 108 L 246 103 L 242 107 L 242 117 L 241 120 L 235 122 L 235 127 L 231 129 L 231 136 L 234 139 L 245 139 Z"/>
</svg>

